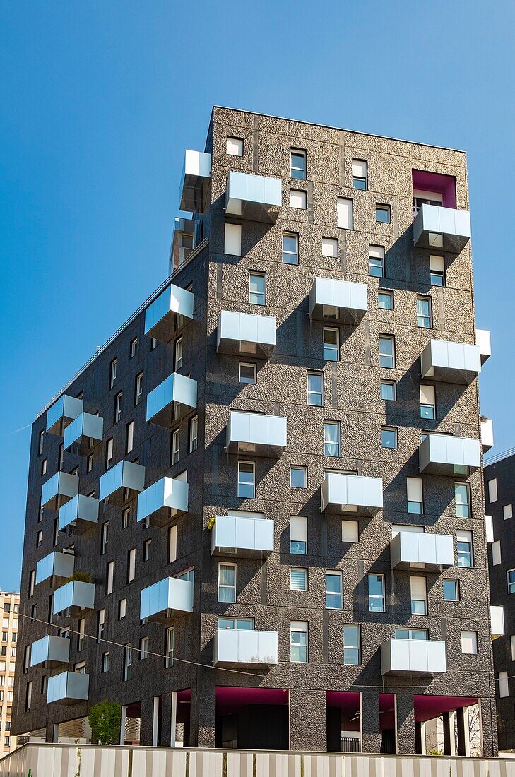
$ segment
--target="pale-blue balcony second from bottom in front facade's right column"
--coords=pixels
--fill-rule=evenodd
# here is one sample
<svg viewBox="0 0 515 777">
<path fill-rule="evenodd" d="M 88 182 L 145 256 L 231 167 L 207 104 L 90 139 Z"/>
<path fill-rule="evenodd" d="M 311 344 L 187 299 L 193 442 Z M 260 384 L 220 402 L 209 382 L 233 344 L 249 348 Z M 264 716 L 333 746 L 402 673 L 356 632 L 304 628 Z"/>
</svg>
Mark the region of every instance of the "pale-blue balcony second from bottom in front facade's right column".
<svg viewBox="0 0 515 777">
<path fill-rule="evenodd" d="M 399 531 L 391 538 L 392 569 L 438 570 L 454 564 L 454 545 L 451 535 L 426 534 L 418 531 Z"/>
</svg>

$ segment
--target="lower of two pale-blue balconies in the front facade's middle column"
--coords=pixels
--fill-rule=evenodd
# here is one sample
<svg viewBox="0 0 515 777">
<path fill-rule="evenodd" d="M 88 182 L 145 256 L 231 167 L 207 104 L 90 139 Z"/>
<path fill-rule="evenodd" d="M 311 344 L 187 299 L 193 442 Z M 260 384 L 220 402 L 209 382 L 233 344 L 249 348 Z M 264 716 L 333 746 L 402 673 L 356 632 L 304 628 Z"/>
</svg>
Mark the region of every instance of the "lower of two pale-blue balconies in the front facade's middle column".
<svg viewBox="0 0 515 777">
<path fill-rule="evenodd" d="M 328 472 L 320 487 L 321 510 L 372 517 L 383 507 L 383 481 Z"/>
</svg>

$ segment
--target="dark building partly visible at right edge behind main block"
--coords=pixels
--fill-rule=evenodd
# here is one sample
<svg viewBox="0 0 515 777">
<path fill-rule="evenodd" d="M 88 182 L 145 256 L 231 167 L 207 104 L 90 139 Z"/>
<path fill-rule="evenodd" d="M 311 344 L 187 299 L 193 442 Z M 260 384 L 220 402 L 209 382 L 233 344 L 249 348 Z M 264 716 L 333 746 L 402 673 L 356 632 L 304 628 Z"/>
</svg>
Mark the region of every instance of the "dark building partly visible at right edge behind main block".
<svg viewBox="0 0 515 777">
<path fill-rule="evenodd" d="M 496 675 L 497 732 L 500 750 L 515 750 L 515 452 L 491 459 L 485 466 L 485 501 L 491 553 L 490 597 L 503 611 L 502 636 L 493 643 Z"/>
</svg>

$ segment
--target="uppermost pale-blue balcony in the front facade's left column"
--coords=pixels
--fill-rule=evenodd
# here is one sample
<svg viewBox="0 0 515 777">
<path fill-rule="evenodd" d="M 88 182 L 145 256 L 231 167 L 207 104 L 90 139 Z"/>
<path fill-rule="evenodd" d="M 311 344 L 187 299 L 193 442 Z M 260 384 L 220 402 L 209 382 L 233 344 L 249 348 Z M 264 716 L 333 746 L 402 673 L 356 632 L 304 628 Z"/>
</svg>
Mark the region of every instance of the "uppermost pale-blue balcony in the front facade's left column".
<svg viewBox="0 0 515 777">
<path fill-rule="evenodd" d="M 225 213 L 249 221 L 275 224 L 281 204 L 280 178 L 255 176 L 250 172 L 231 170 L 225 193 Z"/>
</svg>

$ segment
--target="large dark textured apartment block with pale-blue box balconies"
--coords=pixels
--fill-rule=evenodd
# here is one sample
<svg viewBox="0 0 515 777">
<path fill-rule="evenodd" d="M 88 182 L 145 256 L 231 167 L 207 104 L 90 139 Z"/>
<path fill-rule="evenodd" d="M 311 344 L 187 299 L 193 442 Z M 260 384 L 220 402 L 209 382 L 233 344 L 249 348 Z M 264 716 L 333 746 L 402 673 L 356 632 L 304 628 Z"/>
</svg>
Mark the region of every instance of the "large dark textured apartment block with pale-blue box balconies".
<svg viewBox="0 0 515 777">
<path fill-rule="evenodd" d="M 495 753 L 465 154 L 215 107 L 179 207 L 33 424 L 16 732 Z"/>
</svg>

